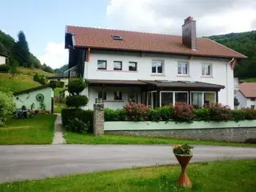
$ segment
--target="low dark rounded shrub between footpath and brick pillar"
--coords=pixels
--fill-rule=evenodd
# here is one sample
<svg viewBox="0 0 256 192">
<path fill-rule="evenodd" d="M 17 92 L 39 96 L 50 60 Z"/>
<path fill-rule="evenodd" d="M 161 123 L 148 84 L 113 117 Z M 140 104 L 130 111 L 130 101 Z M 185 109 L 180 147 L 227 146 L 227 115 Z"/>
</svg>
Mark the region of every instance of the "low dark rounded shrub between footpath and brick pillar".
<svg viewBox="0 0 256 192">
<path fill-rule="evenodd" d="M 67 125 L 65 126 L 67 131 L 72 131 L 79 134 L 86 134 L 90 126 L 89 121 L 83 122 L 83 120 L 79 120 L 78 118 L 69 119 Z"/>
</svg>

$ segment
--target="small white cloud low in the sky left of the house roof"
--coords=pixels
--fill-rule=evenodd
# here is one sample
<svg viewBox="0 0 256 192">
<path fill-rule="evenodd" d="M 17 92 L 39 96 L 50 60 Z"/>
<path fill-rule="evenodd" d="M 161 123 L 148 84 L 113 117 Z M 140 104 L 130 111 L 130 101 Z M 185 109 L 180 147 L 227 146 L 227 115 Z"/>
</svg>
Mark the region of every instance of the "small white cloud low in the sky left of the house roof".
<svg viewBox="0 0 256 192">
<path fill-rule="evenodd" d="M 68 50 L 64 49 L 64 42 L 48 42 L 44 55 L 39 55 L 37 58 L 41 64 L 45 63 L 56 69 L 68 63 L 68 56 Z"/>
</svg>

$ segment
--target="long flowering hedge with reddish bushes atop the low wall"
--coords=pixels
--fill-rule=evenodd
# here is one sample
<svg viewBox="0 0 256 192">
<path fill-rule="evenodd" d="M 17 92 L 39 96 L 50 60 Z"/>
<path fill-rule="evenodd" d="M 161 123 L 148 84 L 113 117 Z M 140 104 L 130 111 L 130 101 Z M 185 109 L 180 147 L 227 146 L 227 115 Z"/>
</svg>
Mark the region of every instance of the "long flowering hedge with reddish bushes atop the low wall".
<svg viewBox="0 0 256 192">
<path fill-rule="evenodd" d="M 195 109 L 189 104 L 178 102 L 175 107 L 168 105 L 156 109 L 146 108 L 143 104 L 126 104 L 124 109 L 105 109 L 105 121 L 168 121 L 191 122 L 192 120 L 227 121 L 256 120 L 256 110 L 230 110 L 222 104 L 209 104 L 202 109 Z"/>
</svg>

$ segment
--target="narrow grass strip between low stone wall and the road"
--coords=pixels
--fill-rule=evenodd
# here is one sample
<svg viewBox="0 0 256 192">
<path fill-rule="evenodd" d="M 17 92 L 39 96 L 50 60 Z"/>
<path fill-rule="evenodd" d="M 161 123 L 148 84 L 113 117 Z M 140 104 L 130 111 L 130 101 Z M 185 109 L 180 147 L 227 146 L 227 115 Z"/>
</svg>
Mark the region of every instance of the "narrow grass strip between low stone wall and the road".
<svg viewBox="0 0 256 192">
<path fill-rule="evenodd" d="M 235 142 L 210 142 L 210 141 L 193 141 L 193 140 L 178 140 L 164 137 L 135 137 L 135 136 L 117 136 L 103 135 L 102 137 L 94 137 L 93 134 L 77 134 L 64 131 L 64 138 L 67 144 L 138 144 L 138 145 L 220 145 L 220 146 L 238 146 L 238 147 L 256 147 L 255 144 L 235 143 Z"/>
</svg>

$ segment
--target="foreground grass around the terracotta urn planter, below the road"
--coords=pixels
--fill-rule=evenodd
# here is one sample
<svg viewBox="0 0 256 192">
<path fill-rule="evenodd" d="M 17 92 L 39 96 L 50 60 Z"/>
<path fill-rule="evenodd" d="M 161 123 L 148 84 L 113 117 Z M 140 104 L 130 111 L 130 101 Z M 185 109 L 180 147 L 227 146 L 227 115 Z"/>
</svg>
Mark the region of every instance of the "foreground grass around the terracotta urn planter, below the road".
<svg viewBox="0 0 256 192">
<path fill-rule="evenodd" d="M 146 160 L 145 160 L 146 161 Z M 4 192 L 253 192 L 256 191 L 256 161 L 215 161 L 189 164 L 187 174 L 192 188 L 176 185 L 178 165 L 119 169 L 77 174 L 43 180 L 0 184 Z"/>
</svg>

